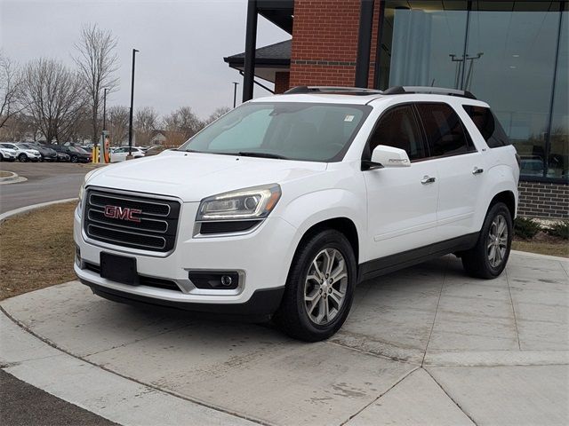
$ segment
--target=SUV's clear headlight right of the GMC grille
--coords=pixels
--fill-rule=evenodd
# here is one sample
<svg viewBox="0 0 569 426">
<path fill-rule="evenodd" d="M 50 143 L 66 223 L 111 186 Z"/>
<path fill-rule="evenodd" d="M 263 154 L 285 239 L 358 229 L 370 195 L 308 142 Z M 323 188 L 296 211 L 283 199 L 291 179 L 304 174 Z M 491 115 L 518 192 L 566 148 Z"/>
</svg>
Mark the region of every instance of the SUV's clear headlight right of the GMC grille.
<svg viewBox="0 0 569 426">
<path fill-rule="evenodd" d="M 205 198 L 197 210 L 197 221 L 268 217 L 281 198 L 279 185 L 262 185 Z"/>
</svg>

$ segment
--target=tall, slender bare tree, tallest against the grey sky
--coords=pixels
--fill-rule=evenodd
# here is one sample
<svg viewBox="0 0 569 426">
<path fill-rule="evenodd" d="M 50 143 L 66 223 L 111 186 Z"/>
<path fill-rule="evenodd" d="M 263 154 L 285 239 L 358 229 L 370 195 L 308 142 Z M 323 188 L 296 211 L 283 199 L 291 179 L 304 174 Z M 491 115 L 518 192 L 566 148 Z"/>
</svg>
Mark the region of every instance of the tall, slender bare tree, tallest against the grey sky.
<svg viewBox="0 0 569 426">
<path fill-rule="evenodd" d="M 99 120 L 101 93 L 104 89 L 113 91 L 118 85 L 118 78 L 115 76 L 118 69 L 116 43 L 116 37 L 110 31 L 93 24 L 82 28 L 81 42 L 76 44 L 78 56 L 74 59 L 89 97 L 94 144 L 99 140 L 102 130 Z"/>
</svg>

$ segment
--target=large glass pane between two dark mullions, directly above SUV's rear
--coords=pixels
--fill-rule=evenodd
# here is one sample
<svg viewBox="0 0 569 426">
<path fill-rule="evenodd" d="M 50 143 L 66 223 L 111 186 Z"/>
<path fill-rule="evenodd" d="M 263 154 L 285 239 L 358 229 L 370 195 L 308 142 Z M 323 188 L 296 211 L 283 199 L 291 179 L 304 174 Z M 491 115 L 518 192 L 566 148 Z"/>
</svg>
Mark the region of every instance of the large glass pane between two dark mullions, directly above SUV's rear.
<svg viewBox="0 0 569 426">
<path fill-rule="evenodd" d="M 559 12 L 519 11 L 517 4 L 508 12 L 475 9 L 481 6 L 469 14 L 467 55 L 482 54 L 468 67 L 464 89 L 492 106 L 522 158 L 522 173 L 542 177 Z"/>
</svg>

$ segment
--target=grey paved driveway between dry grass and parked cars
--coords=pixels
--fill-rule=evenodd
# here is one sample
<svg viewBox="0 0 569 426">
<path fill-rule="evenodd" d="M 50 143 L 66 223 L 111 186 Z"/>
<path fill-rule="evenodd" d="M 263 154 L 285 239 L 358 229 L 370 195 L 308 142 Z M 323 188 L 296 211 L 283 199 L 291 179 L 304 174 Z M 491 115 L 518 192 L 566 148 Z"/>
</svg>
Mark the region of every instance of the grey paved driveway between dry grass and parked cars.
<svg viewBox="0 0 569 426">
<path fill-rule="evenodd" d="M 13 171 L 28 181 L 0 185 L 0 213 L 40 202 L 75 198 L 91 165 L 66 162 L 0 162 L 0 170 Z"/>
</svg>

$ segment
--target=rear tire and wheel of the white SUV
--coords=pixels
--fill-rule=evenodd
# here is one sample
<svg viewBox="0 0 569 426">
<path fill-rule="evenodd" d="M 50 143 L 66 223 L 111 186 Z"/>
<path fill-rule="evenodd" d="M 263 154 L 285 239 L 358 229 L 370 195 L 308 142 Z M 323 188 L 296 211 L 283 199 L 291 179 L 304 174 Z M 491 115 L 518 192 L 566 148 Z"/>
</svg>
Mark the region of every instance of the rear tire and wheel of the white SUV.
<svg viewBox="0 0 569 426">
<path fill-rule="evenodd" d="M 512 245 L 511 213 L 503 202 L 494 204 L 486 213 L 477 245 L 462 253 L 462 266 L 472 277 L 492 280 L 506 267 Z"/>
</svg>

